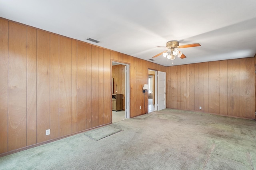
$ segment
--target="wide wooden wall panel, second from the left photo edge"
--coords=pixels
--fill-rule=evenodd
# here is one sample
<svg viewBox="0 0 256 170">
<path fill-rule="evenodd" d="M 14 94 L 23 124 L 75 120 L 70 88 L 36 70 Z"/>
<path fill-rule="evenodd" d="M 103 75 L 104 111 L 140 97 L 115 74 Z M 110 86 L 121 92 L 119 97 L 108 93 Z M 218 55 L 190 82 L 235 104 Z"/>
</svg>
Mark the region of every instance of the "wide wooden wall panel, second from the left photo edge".
<svg viewBox="0 0 256 170">
<path fill-rule="evenodd" d="M 26 146 L 27 28 L 8 27 L 8 151 Z"/>
</svg>

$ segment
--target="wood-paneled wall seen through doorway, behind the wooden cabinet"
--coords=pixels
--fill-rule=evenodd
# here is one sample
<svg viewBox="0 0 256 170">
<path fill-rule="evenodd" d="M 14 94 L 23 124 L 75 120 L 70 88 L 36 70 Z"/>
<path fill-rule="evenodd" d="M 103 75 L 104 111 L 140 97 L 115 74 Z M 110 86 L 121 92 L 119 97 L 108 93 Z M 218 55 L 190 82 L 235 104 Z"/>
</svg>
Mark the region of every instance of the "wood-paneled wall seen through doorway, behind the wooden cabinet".
<svg viewBox="0 0 256 170">
<path fill-rule="evenodd" d="M 112 78 L 114 78 L 113 93 L 123 95 L 123 110 L 125 110 L 125 65 L 113 65 L 112 66 Z M 116 86 L 117 85 L 117 86 Z"/>
</svg>

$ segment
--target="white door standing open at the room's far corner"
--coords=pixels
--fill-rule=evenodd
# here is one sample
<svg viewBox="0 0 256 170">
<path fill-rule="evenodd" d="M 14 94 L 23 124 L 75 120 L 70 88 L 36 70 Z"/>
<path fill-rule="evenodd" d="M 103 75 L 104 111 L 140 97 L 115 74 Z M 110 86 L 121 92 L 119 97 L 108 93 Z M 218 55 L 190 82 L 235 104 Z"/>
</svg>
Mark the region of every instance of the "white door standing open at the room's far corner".
<svg viewBox="0 0 256 170">
<path fill-rule="evenodd" d="M 158 71 L 158 111 L 166 108 L 166 73 Z"/>
</svg>

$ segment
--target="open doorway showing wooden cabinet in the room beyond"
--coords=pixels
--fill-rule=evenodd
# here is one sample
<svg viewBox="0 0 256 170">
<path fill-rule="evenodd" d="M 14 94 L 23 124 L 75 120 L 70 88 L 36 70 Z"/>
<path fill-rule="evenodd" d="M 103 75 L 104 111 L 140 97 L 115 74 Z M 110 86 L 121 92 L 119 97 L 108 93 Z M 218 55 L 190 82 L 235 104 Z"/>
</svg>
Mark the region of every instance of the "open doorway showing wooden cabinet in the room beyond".
<svg viewBox="0 0 256 170">
<path fill-rule="evenodd" d="M 130 118 L 129 66 L 112 61 L 112 123 Z"/>
</svg>

